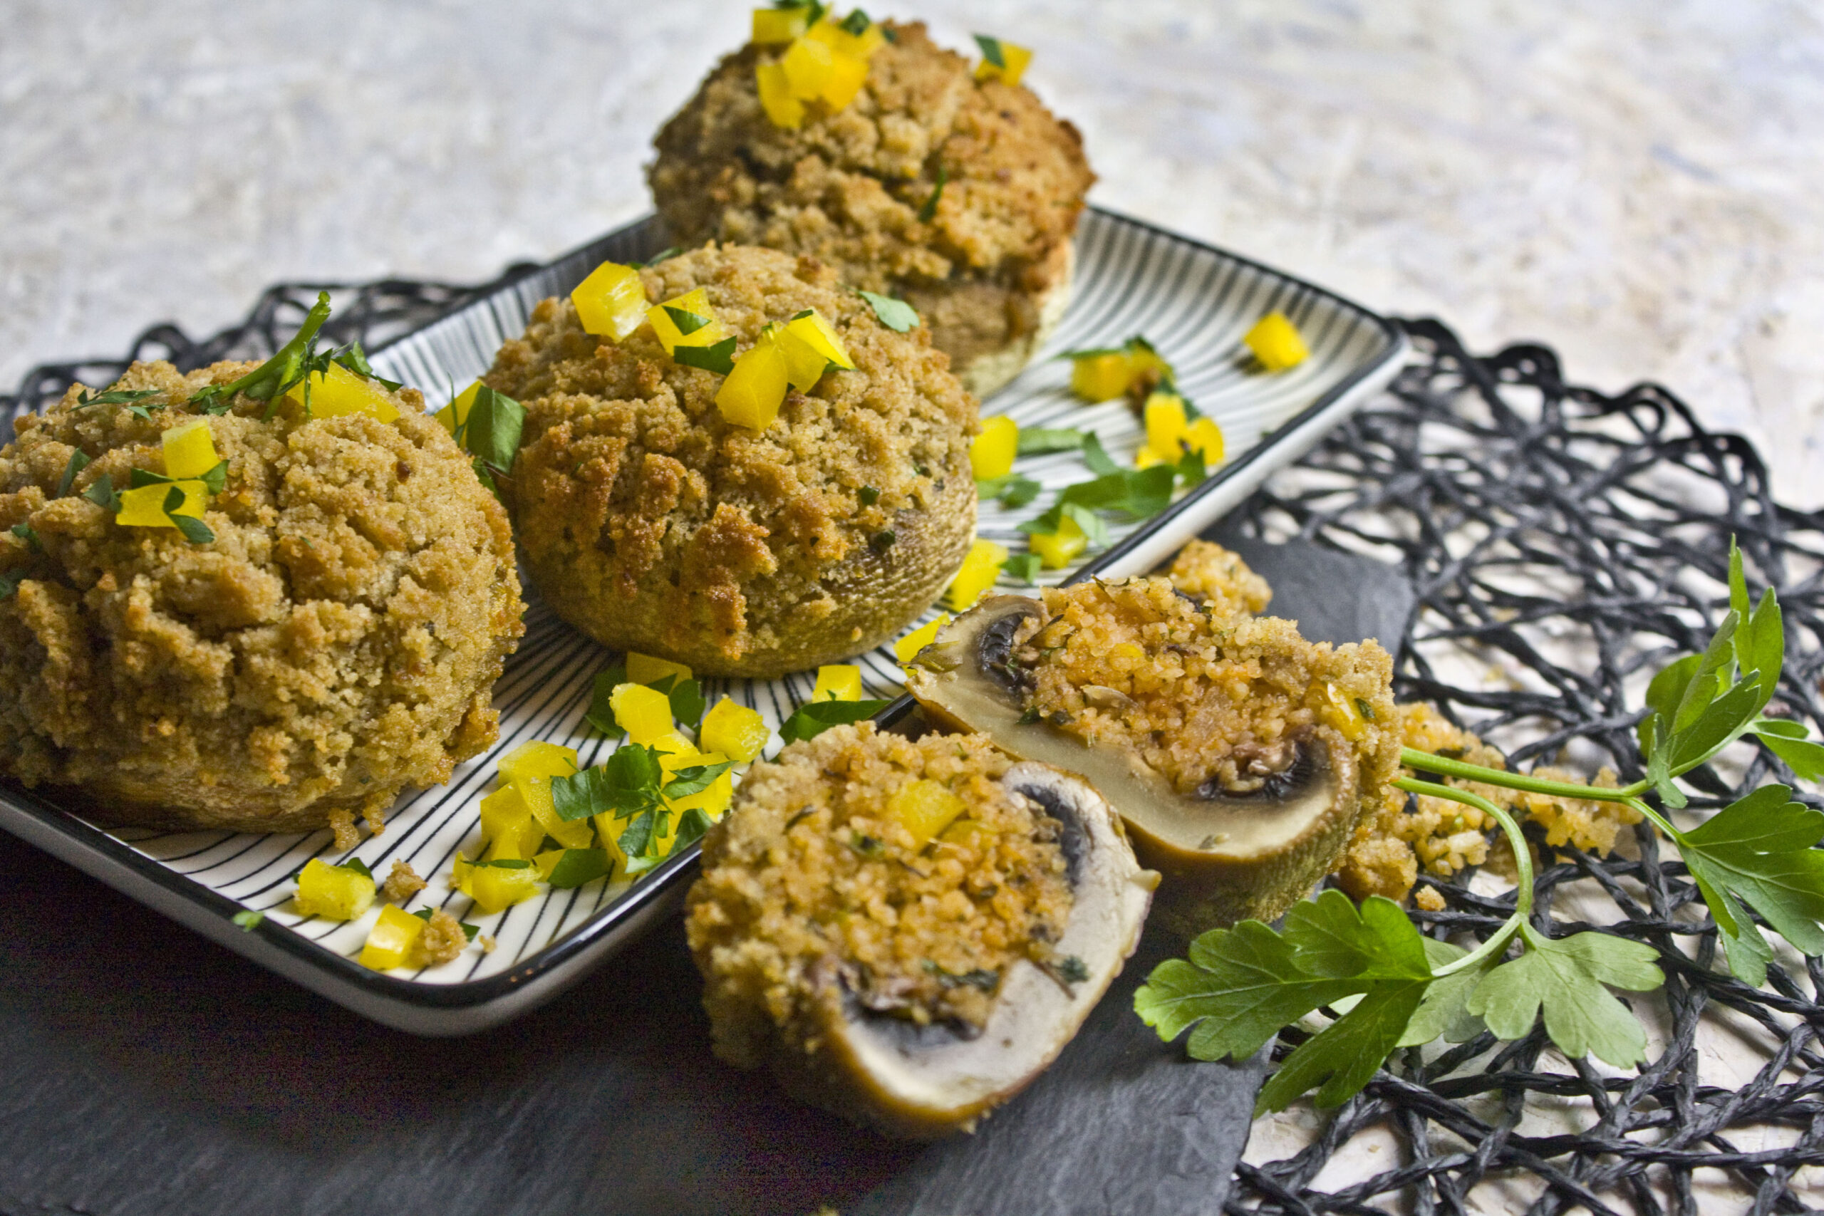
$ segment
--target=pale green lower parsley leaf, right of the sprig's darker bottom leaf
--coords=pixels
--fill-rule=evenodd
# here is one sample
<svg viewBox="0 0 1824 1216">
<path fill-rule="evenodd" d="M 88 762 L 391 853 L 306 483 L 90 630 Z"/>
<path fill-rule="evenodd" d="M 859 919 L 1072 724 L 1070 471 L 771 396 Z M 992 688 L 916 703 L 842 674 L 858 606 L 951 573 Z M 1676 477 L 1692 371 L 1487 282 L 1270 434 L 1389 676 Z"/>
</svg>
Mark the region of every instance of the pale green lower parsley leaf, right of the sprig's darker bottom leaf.
<svg viewBox="0 0 1824 1216">
<path fill-rule="evenodd" d="M 1488 972 L 1465 1008 L 1498 1037 L 1519 1039 L 1543 1006 L 1545 1032 L 1565 1056 L 1594 1054 L 1616 1068 L 1642 1063 L 1647 1032 L 1603 984 L 1631 992 L 1658 988 L 1665 981 L 1654 964 L 1658 952 L 1609 933 L 1545 937 L 1525 921 L 1519 933 L 1527 952 Z"/>
</svg>

